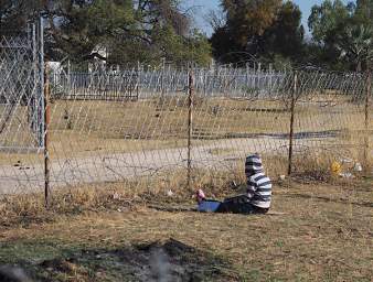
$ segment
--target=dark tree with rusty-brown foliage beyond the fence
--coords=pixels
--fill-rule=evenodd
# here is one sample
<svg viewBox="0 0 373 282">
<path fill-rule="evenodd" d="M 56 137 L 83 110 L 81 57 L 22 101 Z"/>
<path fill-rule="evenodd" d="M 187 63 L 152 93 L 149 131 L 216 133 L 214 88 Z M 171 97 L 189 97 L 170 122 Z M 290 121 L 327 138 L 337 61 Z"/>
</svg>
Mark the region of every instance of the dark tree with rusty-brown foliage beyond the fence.
<svg viewBox="0 0 373 282">
<path fill-rule="evenodd" d="M 225 25 L 211 37 L 213 54 L 223 63 L 253 57 L 301 57 L 303 29 L 299 7 L 280 0 L 224 0 Z"/>
</svg>

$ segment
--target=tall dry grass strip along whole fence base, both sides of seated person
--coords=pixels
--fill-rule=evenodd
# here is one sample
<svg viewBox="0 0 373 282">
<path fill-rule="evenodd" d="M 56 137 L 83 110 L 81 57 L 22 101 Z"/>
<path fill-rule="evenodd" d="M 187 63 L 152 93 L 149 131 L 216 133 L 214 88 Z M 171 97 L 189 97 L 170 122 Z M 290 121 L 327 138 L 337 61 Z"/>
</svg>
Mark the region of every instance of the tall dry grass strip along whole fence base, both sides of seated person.
<svg viewBox="0 0 373 282">
<path fill-rule="evenodd" d="M 302 155 L 294 163 L 292 177 L 280 177 L 287 172 L 287 158 L 263 155 L 267 175 L 273 180 L 275 189 L 278 185 L 290 185 L 297 182 L 349 183 L 353 180 L 337 177 L 331 172 L 333 159 Z M 344 170 L 353 170 L 349 165 Z M 353 172 L 361 177 L 364 172 Z M 342 182 L 341 182 L 342 181 Z M 38 220 L 53 220 L 57 215 L 70 215 L 85 210 L 131 209 L 147 204 L 193 204 L 194 192 L 202 188 L 211 197 L 225 196 L 245 192 L 244 162 L 235 163 L 230 170 L 222 167 L 193 169 L 192 191 L 186 186 L 186 171 L 169 171 L 152 176 L 142 176 L 118 183 L 97 183 L 52 191 L 52 202 L 46 209 L 44 194 L 18 194 L 0 197 L 0 224 L 28 224 Z M 297 184 L 295 184 L 297 185 Z"/>
</svg>

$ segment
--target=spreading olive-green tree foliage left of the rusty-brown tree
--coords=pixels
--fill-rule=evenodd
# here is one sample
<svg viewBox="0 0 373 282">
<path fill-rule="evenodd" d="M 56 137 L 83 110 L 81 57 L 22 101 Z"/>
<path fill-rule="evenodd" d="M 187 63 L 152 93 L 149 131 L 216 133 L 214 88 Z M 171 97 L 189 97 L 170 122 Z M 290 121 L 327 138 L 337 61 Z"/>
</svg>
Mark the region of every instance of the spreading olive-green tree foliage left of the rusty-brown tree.
<svg viewBox="0 0 373 282">
<path fill-rule="evenodd" d="M 86 54 L 102 44 L 109 51 L 110 64 L 210 62 L 206 39 L 190 29 L 189 17 L 174 0 L 96 0 L 70 14 L 61 29 L 72 40 L 65 48 L 68 53 L 78 45 Z"/>
</svg>

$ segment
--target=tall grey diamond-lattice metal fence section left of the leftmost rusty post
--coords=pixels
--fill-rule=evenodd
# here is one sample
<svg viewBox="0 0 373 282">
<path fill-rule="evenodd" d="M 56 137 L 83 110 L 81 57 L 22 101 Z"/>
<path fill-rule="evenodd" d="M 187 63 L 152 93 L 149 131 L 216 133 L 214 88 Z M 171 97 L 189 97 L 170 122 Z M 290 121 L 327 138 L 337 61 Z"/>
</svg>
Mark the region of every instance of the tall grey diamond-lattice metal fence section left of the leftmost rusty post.
<svg viewBox="0 0 373 282">
<path fill-rule="evenodd" d="M 7 35 L 9 34 L 11 35 Z M 41 23 L 0 36 L 0 187 L 19 181 L 18 155 L 33 158 L 44 147 L 44 52 Z M 10 186 L 9 186 L 10 185 Z M 24 186 L 28 184 L 24 183 Z"/>
</svg>

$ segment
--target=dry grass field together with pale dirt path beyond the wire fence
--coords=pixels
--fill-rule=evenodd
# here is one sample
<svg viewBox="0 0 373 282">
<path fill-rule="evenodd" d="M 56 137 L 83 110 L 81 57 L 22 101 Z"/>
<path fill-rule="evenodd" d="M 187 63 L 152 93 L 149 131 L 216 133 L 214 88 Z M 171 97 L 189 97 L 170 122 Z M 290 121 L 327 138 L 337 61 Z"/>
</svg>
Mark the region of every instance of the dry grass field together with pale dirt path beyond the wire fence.
<svg viewBox="0 0 373 282">
<path fill-rule="evenodd" d="M 330 95 L 297 105 L 295 158 L 327 159 L 328 154 L 333 160 L 363 162 L 367 132 L 361 105 Z M 53 101 L 51 186 L 114 182 L 173 166 L 185 167 L 186 105 L 186 97 L 180 95 L 126 102 Z M 4 110 L 0 107 L 0 116 Z M 193 110 L 191 158 L 198 169 L 220 164 L 231 167 L 233 159 L 242 160 L 249 152 L 283 158 L 288 154 L 290 113 L 281 99 L 252 101 L 199 96 Z M 372 128 L 373 119 L 367 129 Z M 0 134 L 0 144 L 4 147 L 0 148 L 0 194 L 43 187 L 43 153 L 29 151 L 34 139 L 28 109 L 19 107 L 14 121 Z M 366 140 L 371 144 L 367 154 L 373 155 L 373 139 Z M 284 170 L 273 173 L 278 176 Z"/>
</svg>

